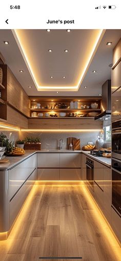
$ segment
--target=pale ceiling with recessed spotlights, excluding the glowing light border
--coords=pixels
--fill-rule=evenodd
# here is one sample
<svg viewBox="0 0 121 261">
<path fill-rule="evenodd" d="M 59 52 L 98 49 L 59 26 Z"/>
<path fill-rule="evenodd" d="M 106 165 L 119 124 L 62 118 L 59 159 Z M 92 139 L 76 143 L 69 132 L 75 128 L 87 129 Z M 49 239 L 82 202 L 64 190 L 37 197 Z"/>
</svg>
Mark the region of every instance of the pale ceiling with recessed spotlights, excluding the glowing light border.
<svg viewBox="0 0 121 261">
<path fill-rule="evenodd" d="M 25 37 L 32 41 L 33 47 L 30 52 L 34 64 L 36 63 L 37 74 L 40 72 L 42 83 L 47 85 L 52 84 L 52 81 L 53 84 L 58 85 L 62 85 L 63 81 L 71 85 L 76 83 L 80 58 L 83 57 L 83 62 L 85 57 L 85 55 L 83 56 L 84 45 L 86 48 L 89 47 L 91 30 L 72 30 L 70 33 L 67 33 L 66 30 L 52 30 L 50 33 L 47 33 L 46 30 L 24 30 L 24 34 L 25 31 L 27 32 Z M 43 41 L 42 45 L 37 47 L 39 37 Z M 121 30 L 106 30 L 77 92 L 59 92 L 58 94 L 56 92 L 38 92 L 11 30 L 0 30 L 0 52 L 29 96 L 98 96 L 101 93 L 102 84 L 111 78 L 109 64 L 112 63 L 112 50 L 120 37 Z M 9 45 L 4 44 L 5 40 L 9 41 Z M 107 46 L 107 41 L 112 41 L 113 44 Z M 88 42 L 88 45 L 86 42 Z M 36 49 L 37 52 L 33 52 L 33 49 Z M 48 49 L 56 49 L 54 56 L 52 56 L 53 53 L 47 52 Z M 64 53 L 63 50 L 65 49 L 69 49 L 69 53 Z M 40 50 L 39 53 L 38 50 Z M 36 55 L 33 56 L 33 53 Z M 68 54 L 69 56 L 67 56 Z M 24 73 L 19 73 L 19 70 L 24 70 Z M 97 72 L 92 73 L 93 70 Z M 51 75 L 55 75 L 54 78 L 51 79 Z M 62 76 L 66 76 L 66 78 L 63 79 Z M 31 89 L 28 87 L 29 85 L 32 86 Z M 84 86 L 88 86 L 88 88 L 85 89 Z"/>
</svg>

